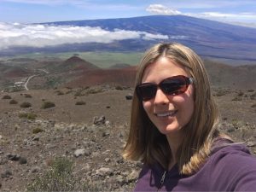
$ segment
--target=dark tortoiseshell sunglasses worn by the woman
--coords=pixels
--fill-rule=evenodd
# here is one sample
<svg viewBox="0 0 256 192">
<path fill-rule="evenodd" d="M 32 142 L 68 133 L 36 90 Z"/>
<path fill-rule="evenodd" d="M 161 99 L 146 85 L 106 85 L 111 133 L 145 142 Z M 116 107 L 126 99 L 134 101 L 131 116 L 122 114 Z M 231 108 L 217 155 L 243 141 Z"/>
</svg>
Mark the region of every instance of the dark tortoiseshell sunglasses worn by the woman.
<svg viewBox="0 0 256 192">
<path fill-rule="evenodd" d="M 188 90 L 189 84 L 193 83 L 193 78 L 183 75 L 173 76 L 163 79 L 160 84 L 143 83 L 136 86 L 137 96 L 142 101 L 153 99 L 159 87 L 166 95 L 177 96 Z"/>
</svg>

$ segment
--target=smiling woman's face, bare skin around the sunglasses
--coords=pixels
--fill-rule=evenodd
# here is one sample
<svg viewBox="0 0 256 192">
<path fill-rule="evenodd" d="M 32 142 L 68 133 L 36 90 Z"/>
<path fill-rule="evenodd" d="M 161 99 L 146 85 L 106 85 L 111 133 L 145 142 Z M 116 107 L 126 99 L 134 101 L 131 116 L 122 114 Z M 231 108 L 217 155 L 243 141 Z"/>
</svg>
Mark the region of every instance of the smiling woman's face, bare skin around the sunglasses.
<svg viewBox="0 0 256 192">
<path fill-rule="evenodd" d="M 189 77 L 184 67 L 160 57 L 146 67 L 142 83 L 159 84 L 163 79 L 176 75 Z M 193 85 L 189 84 L 188 90 L 176 96 L 166 95 L 158 88 L 153 99 L 143 101 L 143 108 L 162 134 L 174 136 L 189 123 L 194 112 Z"/>
</svg>

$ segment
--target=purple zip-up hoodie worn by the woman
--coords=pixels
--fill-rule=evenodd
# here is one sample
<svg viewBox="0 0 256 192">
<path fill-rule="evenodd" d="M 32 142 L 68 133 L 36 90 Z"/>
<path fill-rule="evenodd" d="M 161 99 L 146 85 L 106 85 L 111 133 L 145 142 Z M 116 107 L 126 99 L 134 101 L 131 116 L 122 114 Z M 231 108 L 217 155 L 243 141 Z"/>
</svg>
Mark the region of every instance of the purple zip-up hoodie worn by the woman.
<svg viewBox="0 0 256 192">
<path fill-rule="evenodd" d="M 164 172 L 159 164 L 143 166 L 134 191 L 157 191 Z M 256 158 L 241 144 L 215 148 L 191 176 L 173 166 L 159 191 L 256 191 Z"/>
</svg>

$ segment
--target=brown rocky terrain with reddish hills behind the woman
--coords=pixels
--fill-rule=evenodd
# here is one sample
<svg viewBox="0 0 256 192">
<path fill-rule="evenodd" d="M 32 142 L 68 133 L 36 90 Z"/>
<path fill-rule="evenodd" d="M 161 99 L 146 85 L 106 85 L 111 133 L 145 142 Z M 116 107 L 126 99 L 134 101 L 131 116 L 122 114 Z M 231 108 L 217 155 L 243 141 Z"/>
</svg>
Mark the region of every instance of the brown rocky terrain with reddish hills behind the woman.
<svg viewBox="0 0 256 192">
<path fill-rule="evenodd" d="M 77 56 L 24 61 L 18 72 L 15 63 L 0 63 L 0 190 L 26 190 L 57 157 L 73 162 L 80 185 L 89 183 L 77 190 L 132 190 L 142 165 L 123 160 L 121 152 L 136 67 L 103 70 Z M 221 113 L 219 129 L 256 154 L 256 66 L 206 65 Z M 9 76 L 11 69 L 16 73 Z M 15 86 L 18 81 L 23 84 Z M 55 106 L 43 108 L 46 102 Z"/>
</svg>

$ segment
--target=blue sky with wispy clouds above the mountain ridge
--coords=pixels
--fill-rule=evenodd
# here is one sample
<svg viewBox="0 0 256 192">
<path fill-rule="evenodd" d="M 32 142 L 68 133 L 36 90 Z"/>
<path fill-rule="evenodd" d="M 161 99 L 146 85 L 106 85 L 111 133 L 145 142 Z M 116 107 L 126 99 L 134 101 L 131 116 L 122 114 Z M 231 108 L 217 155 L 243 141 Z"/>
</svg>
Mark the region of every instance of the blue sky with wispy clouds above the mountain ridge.
<svg viewBox="0 0 256 192">
<path fill-rule="evenodd" d="M 34 23 L 142 15 L 190 15 L 256 23 L 255 0 L 0 0 L 0 22 Z"/>
</svg>

